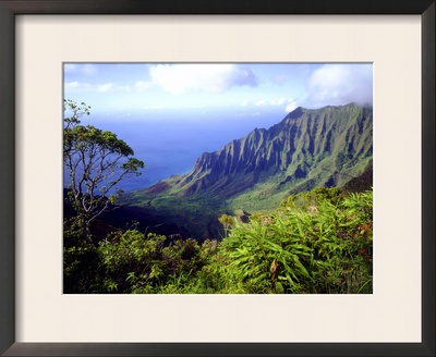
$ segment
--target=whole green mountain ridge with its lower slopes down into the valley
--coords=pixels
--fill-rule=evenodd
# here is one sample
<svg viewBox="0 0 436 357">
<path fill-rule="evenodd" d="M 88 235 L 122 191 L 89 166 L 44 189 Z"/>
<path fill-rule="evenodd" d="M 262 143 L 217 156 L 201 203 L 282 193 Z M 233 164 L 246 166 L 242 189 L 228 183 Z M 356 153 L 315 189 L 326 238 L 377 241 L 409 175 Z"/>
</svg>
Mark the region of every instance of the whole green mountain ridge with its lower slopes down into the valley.
<svg viewBox="0 0 436 357">
<path fill-rule="evenodd" d="M 210 226 L 219 213 L 271 211 L 291 194 L 341 187 L 360 176 L 372 157 L 371 107 L 300 107 L 268 130 L 255 128 L 202 153 L 187 174 L 133 192 L 124 200 L 153 207 L 205 237 L 217 234 Z"/>
</svg>

